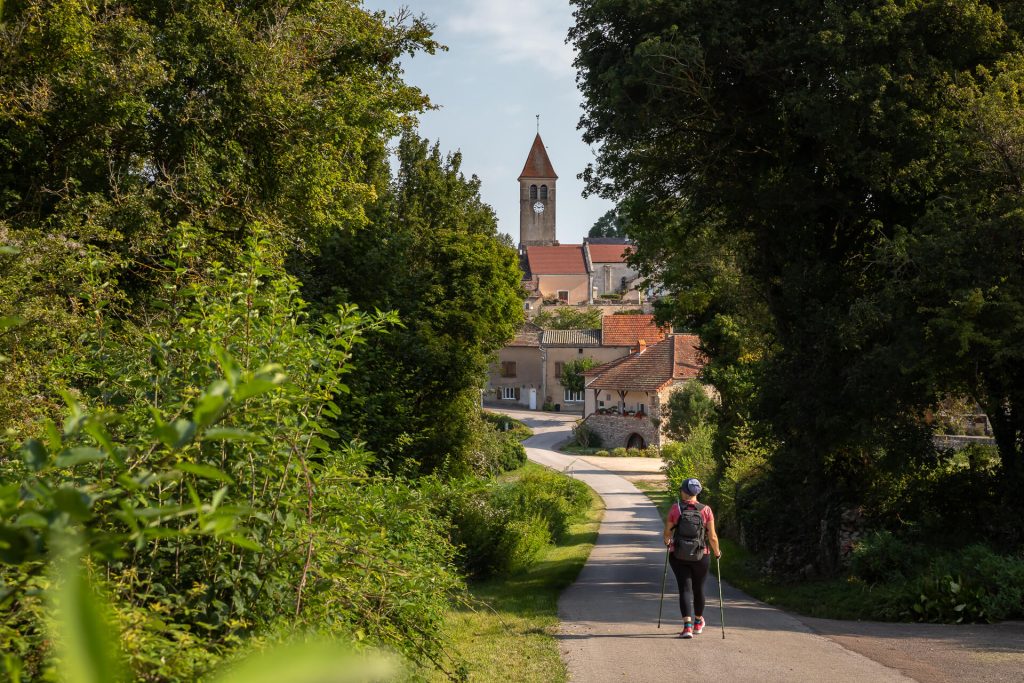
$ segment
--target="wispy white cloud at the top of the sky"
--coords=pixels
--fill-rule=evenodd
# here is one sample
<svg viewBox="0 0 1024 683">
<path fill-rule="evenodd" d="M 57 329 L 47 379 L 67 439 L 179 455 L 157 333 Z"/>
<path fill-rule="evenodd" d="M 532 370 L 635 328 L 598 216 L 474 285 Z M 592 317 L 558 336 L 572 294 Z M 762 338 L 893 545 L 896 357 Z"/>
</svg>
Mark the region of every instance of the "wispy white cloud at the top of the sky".
<svg viewBox="0 0 1024 683">
<path fill-rule="evenodd" d="M 554 76 L 572 73 L 573 50 L 565 44 L 571 24 L 568 0 L 463 0 L 450 17 L 453 31 L 489 42 L 499 60 Z"/>
</svg>

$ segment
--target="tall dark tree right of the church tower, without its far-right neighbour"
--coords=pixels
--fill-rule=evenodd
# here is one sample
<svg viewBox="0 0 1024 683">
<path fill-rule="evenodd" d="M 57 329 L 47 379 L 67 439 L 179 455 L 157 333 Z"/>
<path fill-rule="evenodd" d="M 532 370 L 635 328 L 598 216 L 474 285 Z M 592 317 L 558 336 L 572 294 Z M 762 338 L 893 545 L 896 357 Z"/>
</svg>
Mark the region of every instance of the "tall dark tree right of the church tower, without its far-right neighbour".
<svg viewBox="0 0 1024 683">
<path fill-rule="evenodd" d="M 872 266 L 881 245 L 924 230 L 973 172 L 962 164 L 958 92 L 984 88 L 984 74 L 1020 50 L 1019 8 L 574 4 L 582 125 L 600 144 L 590 189 L 634 207 L 639 256 L 663 260 L 687 315 L 712 323 L 738 305 L 739 329 L 762 331 L 754 408 L 784 443 L 778 483 L 806 518 L 835 514 L 859 496 L 877 446 L 912 433 L 922 438 L 911 451 L 927 451 L 916 415 L 940 378 L 909 340 L 889 343 L 921 321 L 876 305 Z M 685 250 L 701 241 L 708 249 Z M 688 289 L 692 255 L 722 248 L 714 270 L 738 268 L 745 302 L 718 287 L 701 302 L 699 286 Z M 1002 458 L 1015 467 L 1017 456 Z M 816 529 L 805 530 L 812 541 Z"/>
</svg>

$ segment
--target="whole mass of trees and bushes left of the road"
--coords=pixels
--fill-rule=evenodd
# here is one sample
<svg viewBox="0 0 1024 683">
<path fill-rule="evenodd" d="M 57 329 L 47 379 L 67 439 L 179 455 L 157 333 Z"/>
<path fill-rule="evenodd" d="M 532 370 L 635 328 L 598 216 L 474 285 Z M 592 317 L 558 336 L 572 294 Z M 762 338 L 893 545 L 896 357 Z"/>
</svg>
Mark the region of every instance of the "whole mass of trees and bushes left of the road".
<svg viewBox="0 0 1024 683">
<path fill-rule="evenodd" d="M 520 273 L 417 133 L 431 31 L 0 3 L 0 678 L 459 680 L 467 580 L 573 533 L 478 408 Z"/>
</svg>

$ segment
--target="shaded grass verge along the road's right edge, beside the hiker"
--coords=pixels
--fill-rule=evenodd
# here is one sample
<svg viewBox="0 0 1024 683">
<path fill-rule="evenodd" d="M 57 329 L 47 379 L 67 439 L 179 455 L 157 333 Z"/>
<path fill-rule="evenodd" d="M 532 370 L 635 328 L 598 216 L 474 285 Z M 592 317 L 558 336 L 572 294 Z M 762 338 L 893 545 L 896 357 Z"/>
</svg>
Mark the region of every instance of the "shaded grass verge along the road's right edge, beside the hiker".
<svg viewBox="0 0 1024 683">
<path fill-rule="evenodd" d="M 663 486 L 637 482 L 637 488 L 657 507 L 665 519 L 675 502 Z M 722 581 L 738 588 L 751 597 L 807 616 L 821 618 L 870 618 L 870 588 L 855 581 L 824 579 L 785 583 L 766 579 L 760 571 L 756 555 L 726 537 L 719 537 L 722 547 Z"/>
</svg>

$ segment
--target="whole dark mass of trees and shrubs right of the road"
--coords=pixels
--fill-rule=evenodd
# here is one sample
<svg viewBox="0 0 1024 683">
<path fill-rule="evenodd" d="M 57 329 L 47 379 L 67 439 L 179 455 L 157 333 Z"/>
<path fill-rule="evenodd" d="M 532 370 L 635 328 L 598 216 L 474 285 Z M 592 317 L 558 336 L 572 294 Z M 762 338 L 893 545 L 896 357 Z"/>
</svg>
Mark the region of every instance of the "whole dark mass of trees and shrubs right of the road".
<svg viewBox="0 0 1024 683">
<path fill-rule="evenodd" d="M 670 479 L 708 485 L 772 585 L 1020 617 L 1020 3 L 572 4 L 584 177 L 715 389 L 673 407 Z M 935 438 L 978 412 L 994 446 Z"/>
</svg>

